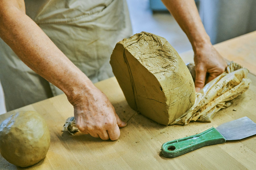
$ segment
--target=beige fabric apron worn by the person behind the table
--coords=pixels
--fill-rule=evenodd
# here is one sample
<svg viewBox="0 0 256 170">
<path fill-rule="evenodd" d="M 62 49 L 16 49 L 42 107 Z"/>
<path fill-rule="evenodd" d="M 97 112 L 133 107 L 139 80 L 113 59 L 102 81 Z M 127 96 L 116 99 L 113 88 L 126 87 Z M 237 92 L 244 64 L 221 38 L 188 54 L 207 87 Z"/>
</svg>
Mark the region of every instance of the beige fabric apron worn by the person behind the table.
<svg viewBox="0 0 256 170">
<path fill-rule="evenodd" d="M 132 35 L 125 0 L 25 0 L 25 6 L 26 14 L 92 82 L 113 76 L 112 50 Z M 0 72 L 7 111 L 62 93 L 1 39 Z"/>
</svg>

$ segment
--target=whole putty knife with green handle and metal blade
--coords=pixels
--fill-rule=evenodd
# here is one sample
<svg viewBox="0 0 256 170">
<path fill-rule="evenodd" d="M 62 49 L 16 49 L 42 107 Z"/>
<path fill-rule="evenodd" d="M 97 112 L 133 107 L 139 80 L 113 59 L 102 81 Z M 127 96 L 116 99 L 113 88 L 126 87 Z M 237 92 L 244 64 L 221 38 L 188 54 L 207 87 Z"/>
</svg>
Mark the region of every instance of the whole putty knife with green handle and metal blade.
<svg viewBox="0 0 256 170">
<path fill-rule="evenodd" d="M 239 140 L 255 134 L 256 124 L 249 118 L 243 117 L 193 136 L 165 142 L 161 151 L 163 156 L 174 158 L 200 147 L 224 143 L 226 140 Z"/>
</svg>

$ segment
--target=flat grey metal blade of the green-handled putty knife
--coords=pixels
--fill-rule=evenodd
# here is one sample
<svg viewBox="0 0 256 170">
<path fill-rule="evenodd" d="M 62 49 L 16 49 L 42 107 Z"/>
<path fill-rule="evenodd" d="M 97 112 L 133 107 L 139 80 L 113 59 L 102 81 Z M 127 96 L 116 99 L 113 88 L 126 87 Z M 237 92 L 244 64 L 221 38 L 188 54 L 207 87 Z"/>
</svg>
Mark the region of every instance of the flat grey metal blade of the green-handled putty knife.
<svg viewBox="0 0 256 170">
<path fill-rule="evenodd" d="M 239 140 L 256 134 L 256 123 L 247 117 L 224 123 L 216 128 L 226 140 Z"/>
</svg>

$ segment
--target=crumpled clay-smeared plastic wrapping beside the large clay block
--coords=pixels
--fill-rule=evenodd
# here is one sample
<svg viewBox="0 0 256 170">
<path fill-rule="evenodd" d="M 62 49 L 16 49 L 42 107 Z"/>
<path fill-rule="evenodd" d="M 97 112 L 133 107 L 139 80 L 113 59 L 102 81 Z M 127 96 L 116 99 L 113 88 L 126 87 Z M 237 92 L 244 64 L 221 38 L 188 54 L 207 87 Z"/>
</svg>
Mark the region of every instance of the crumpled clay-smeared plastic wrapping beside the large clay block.
<svg viewBox="0 0 256 170">
<path fill-rule="evenodd" d="M 192 75 L 195 75 L 193 64 L 188 64 Z M 196 93 L 195 104 L 180 118 L 171 124 L 186 125 L 190 121 L 211 122 L 220 110 L 232 105 L 232 99 L 244 93 L 251 80 L 247 78 L 248 69 L 231 62 L 224 73 L 207 83 Z"/>
</svg>

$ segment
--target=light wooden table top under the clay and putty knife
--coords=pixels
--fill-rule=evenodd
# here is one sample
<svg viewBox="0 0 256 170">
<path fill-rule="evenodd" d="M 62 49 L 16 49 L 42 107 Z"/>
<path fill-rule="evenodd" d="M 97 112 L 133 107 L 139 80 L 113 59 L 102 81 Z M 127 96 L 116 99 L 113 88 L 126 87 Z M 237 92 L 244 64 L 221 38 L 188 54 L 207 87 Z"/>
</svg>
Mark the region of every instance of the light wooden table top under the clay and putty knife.
<svg viewBox="0 0 256 170">
<path fill-rule="evenodd" d="M 219 43 L 216 48 L 227 59 L 256 74 L 256 32 Z M 181 56 L 185 62 L 193 61 L 192 51 Z M 255 169 L 255 135 L 206 146 L 176 158 L 159 156 L 161 145 L 166 141 L 193 135 L 244 116 L 256 122 L 256 76 L 253 74 L 249 74 L 252 80 L 249 90 L 234 99 L 231 107 L 219 111 L 211 123 L 159 125 L 128 106 L 114 77 L 95 85 L 108 96 L 120 118 L 128 122 L 127 127 L 120 129 L 121 136 L 116 141 L 102 141 L 80 132 L 75 136 L 62 132 L 65 120 L 73 116 L 73 107 L 65 95 L 8 112 L 0 116 L 0 122 L 22 110 L 37 111 L 46 119 L 51 133 L 49 151 L 43 161 L 27 169 Z M 0 155 L 0 169 L 23 168 L 8 163 Z"/>
</svg>

